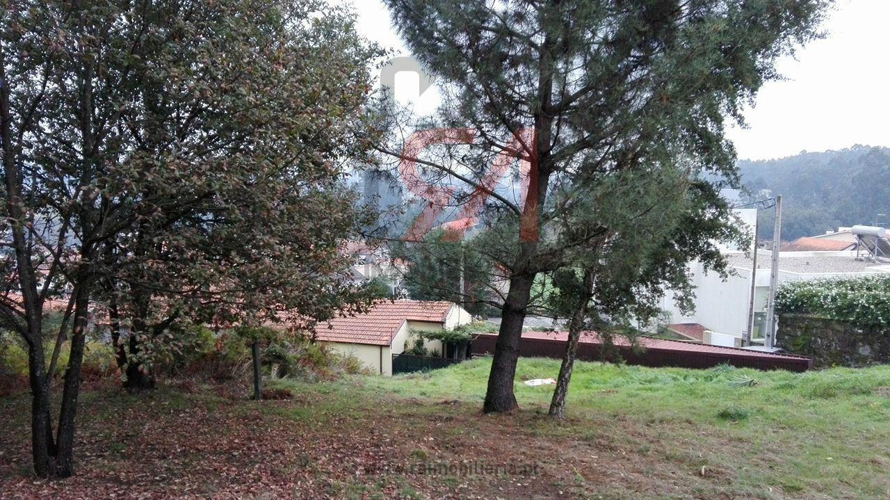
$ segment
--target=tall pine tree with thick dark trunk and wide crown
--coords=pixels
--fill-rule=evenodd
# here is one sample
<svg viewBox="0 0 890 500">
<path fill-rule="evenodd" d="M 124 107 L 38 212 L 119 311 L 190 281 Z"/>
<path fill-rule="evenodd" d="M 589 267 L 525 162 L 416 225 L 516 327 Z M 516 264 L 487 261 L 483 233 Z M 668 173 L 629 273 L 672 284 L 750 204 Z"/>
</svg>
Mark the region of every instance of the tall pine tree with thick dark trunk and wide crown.
<svg viewBox="0 0 890 500">
<path fill-rule="evenodd" d="M 570 265 L 570 249 L 609 230 L 554 238 L 557 215 L 572 210 L 551 196 L 554 186 L 625 171 L 645 178 L 681 165 L 736 185 L 727 117 L 741 121 L 742 105 L 776 77 L 773 62 L 815 36 L 829 2 L 386 4 L 410 49 L 444 86 L 433 123 L 472 129 L 440 132 L 439 141 L 449 144 L 427 150 L 423 165 L 484 194 L 498 224 L 510 228 L 489 248 L 506 270 L 509 291 L 484 410 L 502 412 L 516 407 L 516 359 L 535 278 Z M 381 149 L 403 161 L 417 157 Z M 517 174 L 529 186 L 519 202 L 487 182 L 498 155 L 529 165 Z M 473 194 L 454 198 L 461 197 Z"/>
</svg>

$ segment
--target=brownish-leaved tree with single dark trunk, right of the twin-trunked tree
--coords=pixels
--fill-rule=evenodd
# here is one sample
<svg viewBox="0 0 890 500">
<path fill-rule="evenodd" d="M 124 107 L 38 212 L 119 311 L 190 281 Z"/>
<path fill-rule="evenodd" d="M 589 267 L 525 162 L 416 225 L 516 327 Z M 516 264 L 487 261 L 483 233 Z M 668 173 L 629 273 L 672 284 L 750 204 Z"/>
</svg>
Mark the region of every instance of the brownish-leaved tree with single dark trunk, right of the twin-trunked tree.
<svg viewBox="0 0 890 500">
<path fill-rule="evenodd" d="M 342 163 L 364 154 L 355 132 L 367 134 L 360 112 L 374 52 L 344 12 L 280 7 L 241 5 L 258 20 L 247 22 L 220 15 L 227 4 L 142 12 L 153 36 L 140 45 L 134 85 L 156 98 L 123 117 L 134 151 L 117 181 L 132 203 L 156 200 L 158 210 L 118 233 L 104 281 L 129 388 L 151 386 L 151 340 L 176 319 L 325 318 L 350 302 L 339 247 L 363 219 Z"/>
</svg>

